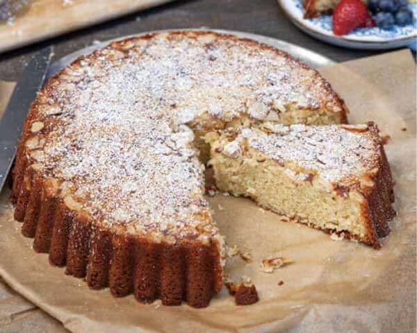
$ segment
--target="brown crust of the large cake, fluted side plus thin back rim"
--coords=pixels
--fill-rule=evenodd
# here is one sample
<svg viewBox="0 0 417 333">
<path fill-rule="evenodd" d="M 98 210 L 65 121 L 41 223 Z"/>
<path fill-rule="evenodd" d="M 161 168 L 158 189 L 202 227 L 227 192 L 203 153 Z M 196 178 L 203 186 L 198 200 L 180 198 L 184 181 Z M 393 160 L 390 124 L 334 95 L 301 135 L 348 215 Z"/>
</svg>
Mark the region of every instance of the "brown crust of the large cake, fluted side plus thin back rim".
<svg viewBox="0 0 417 333">
<path fill-rule="evenodd" d="M 185 34 L 188 33 L 172 33 Z M 194 34 L 203 35 L 204 32 Z M 140 38 L 150 39 L 155 35 Z M 238 40 L 232 35 L 215 35 Z M 132 40 L 136 38 L 114 42 L 108 47 L 122 50 Z M 310 69 L 272 46 L 252 40 L 243 41 L 291 59 L 294 66 Z M 94 59 L 99 52 L 81 57 L 72 62 L 72 65 L 79 65 L 86 58 Z M 313 72 L 332 101 L 328 111 L 339 114 L 341 123 L 347 122 L 347 108 L 343 100 L 317 71 Z M 61 75 L 63 71 L 49 78 L 40 95 L 47 98 Z M 326 101 L 322 102 L 327 108 Z M 65 273 L 78 278 L 85 277 L 92 289 L 110 287 L 114 296 L 125 296 L 133 292 L 142 302 L 161 298 L 164 305 L 179 305 L 185 300 L 193 307 L 207 306 L 213 294 L 222 288 L 222 266 L 216 240 L 202 244 L 197 239 L 177 239 L 171 244 L 128 236 L 122 228 L 110 230 L 98 225 L 90 216 L 71 210 L 62 198 L 47 191 L 44 185 L 47 179 L 33 167 L 35 160 L 29 157 L 26 149 L 29 139 L 46 136 L 56 125 L 53 117 L 45 117 L 40 113 L 41 106 L 37 99 L 28 113 L 17 148 L 11 194 L 16 204 L 15 219 L 24 222 L 22 233 L 26 237 L 35 237 L 34 250 L 49 253 L 51 264 L 67 266 Z M 42 128 L 36 130 L 36 135 L 31 132 L 33 121 L 44 123 Z"/>
</svg>

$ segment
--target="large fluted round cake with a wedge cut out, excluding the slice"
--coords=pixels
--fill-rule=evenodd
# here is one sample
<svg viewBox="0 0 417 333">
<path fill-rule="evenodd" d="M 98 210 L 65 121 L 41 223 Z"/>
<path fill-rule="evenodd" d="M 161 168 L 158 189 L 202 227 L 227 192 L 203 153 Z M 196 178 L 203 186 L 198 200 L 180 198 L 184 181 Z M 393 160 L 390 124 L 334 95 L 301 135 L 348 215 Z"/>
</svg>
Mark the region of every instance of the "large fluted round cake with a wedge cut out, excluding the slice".
<svg viewBox="0 0 417 333">
<path fill-rule="evenodd" d="M 204 31 L 113 42 L 49 79 L 28 114 L 12 199 L 33 248 L 115 296 L 208 305 L 222 237 L 204 198 L 208 133 L 346 123 L 317 71 Z"/>
</svg>

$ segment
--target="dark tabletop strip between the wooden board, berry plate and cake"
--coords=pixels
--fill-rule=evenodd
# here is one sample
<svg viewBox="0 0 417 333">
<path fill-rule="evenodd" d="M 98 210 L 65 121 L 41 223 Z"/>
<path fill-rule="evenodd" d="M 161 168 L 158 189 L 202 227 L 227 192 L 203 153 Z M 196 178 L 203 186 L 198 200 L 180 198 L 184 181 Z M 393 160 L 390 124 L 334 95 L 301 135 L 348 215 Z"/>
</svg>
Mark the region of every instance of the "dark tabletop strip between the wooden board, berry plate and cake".
<svg viewBox="0 0 417 333">
<path fill-rule="evenodd" d="M 109 40 L 158 29 L 201 26 L 275 37 L 316 51 L 337 62 L 381 52 L 343 49 L 315 40 L 291 24 L 277 0 L 183 0 L 0 54 L 0 80 L 18 80 L 31 55 L 50 44 L 56 46 L 56 57 L 60 58 L 88 46 L 94 40 Z"/>
</svg>

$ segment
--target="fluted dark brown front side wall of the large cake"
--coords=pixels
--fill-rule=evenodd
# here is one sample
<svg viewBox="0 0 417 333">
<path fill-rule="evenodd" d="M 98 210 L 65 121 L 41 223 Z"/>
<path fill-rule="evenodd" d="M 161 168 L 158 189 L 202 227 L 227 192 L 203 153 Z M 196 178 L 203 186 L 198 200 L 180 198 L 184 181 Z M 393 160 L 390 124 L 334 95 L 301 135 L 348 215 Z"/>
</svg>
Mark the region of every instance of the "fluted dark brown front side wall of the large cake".
<svg viewBox="0 0 417 333">
<path fill-rule="evenodd" d="M 156 244 L 148 239 L 114 234 L 92 225 L 57 198 L 47 198 L 40 179 L 32 180 L 22 233 L 35 237 L 34 249 L 49 262 L 67 266 L 65 273 L 84 278 L 92 289 L 110 287 L 114 296 L 131 292 L 141 302 L 161 298 L 164 305 L 182 300 L 206 307 L 222 286 L 220 253 L 211 246 L 183 240 Z M 17 201 L 26 192 L 19 191 Z"/>
</svg>

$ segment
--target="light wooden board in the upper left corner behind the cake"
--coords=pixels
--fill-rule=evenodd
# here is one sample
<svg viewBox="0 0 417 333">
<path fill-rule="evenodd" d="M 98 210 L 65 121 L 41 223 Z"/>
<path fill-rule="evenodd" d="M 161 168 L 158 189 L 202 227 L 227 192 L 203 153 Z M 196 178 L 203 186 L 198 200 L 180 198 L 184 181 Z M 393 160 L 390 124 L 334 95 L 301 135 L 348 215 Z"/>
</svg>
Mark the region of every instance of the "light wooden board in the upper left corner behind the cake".
<svg viewBox="0 0 417 333">
<path fill-rule="evenodd" d="M 0 53 L 172 0 L 32 0 L 13 24 L 0 24 Z"/>
</svg>

